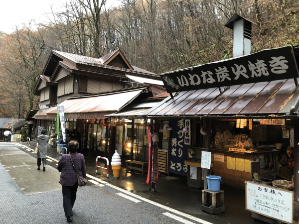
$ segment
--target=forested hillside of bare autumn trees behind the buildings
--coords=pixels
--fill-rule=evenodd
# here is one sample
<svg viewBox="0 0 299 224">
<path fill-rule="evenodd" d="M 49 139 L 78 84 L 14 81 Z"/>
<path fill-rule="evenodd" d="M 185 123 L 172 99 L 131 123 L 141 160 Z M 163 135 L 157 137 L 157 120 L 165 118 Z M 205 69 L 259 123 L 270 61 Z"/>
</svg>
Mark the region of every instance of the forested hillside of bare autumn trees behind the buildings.
<svg viewBox="0 0 299 224">
<path fill-rule="evenodd" d="M 48 21 L 0 33 L 0 117 L 23 118 L 52 49 L 99 58 L 120 48 L 157 74 L 232 57 L 235 14 L 253 25 L 252 52 L 299 44 L 298 0 L 68 0 Z M 41 9 L 42 10 L 42 9 Z M 112 42 L 115 44 L 112 44 Z"/>
</svg>

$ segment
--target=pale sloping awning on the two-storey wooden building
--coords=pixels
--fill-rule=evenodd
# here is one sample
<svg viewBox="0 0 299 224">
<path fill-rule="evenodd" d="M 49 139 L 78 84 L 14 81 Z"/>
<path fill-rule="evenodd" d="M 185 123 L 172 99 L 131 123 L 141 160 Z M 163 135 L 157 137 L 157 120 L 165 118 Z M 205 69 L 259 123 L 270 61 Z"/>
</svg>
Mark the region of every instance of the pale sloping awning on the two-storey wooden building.
<svg viewBox="0 0 299 224">
<path fill-rule="evenodd" d="M 77 97 L 65 100 L 59 106 L 64 106 L 65 118 L 104 118 L 104 115 L 118 112 L 139 96 L 145 88 L 126 90 L 114 94 L 101 94 L 89 97 Z M 56 117 L 56 107 L 49 108 L 35 115 L 36 119 Z"/>
</svg>

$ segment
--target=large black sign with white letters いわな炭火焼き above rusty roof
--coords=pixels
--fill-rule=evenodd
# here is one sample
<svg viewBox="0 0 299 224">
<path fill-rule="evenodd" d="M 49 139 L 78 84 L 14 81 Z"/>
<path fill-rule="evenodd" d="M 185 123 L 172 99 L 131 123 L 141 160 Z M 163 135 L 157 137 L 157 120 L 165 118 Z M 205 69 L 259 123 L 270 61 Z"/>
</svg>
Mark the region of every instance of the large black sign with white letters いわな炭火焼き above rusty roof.
<svg viewBox="0 0 299 224">
<path fill-rule="evenodd" d="M 291 46 L 161 75 L 168 93 L 298 78 Z"/>
</svg>

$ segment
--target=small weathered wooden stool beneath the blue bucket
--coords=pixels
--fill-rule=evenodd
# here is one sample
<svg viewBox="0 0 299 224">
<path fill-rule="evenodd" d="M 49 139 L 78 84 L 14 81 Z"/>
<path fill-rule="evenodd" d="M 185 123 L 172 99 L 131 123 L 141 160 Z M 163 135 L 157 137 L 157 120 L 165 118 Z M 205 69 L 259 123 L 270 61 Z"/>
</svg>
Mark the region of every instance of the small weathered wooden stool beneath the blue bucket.
<svg viewBox="0 0 299 224">
<path fill-rule="evenodd" d="M 218 194 L 218 195 L 217 195 Z M 209 196 L 209 197 L 208 197 Z M 218 197 L 217 197 L 218 196 Z M 218 203 L 216 202 L 218 198 Z M 208 189 L 202 190 L 202 211 L 210 214 L 218 214 L 224 212 L 224 191 L 210 191 Z"/>
</svg>

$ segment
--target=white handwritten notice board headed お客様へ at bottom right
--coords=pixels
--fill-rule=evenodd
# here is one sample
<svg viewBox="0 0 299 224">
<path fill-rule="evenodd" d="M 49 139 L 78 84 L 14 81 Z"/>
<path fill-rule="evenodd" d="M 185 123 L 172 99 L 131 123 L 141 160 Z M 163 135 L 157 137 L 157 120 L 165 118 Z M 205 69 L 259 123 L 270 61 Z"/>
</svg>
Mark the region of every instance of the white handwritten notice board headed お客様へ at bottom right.
<svg viewBox="0 0 299 224">
<path fill-rule="evenodd" d="M 292 224 L 293 192 L 246 181 L 246 210 Z"/>
</svg>

